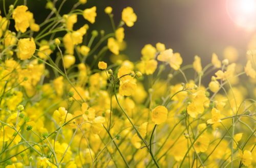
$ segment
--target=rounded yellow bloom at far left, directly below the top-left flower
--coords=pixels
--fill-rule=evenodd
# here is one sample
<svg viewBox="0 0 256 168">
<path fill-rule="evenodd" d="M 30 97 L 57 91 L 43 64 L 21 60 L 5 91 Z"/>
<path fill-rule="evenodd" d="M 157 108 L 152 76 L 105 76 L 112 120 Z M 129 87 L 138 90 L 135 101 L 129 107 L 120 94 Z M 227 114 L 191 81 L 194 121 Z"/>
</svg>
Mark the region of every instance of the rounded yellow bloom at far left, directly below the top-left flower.
<svg viewBox="0 0 256 168">
<path fill-rule="evenodd" d="M 17 57 L 20 60 L 30 59 L 35 53 L 35 42 L 34 39 L 26 38 L 18 41 Z"/>
</svg>

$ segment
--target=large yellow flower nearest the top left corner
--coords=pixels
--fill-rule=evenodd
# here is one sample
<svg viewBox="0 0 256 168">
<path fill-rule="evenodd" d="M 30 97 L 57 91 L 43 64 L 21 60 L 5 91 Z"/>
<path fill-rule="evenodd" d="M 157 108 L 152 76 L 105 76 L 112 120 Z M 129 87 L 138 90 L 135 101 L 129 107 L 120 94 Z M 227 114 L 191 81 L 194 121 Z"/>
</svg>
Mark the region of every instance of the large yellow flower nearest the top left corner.
<svg viewBox="0 0 256 168">
<path fill-rule="evenodd" d="M 15 20 L 15 29 L 22 33 L 26 32 L 29 27 L 28 7 L 22 5 L 17 6 L 12 13 L 12 18 Z"/>
</svg>

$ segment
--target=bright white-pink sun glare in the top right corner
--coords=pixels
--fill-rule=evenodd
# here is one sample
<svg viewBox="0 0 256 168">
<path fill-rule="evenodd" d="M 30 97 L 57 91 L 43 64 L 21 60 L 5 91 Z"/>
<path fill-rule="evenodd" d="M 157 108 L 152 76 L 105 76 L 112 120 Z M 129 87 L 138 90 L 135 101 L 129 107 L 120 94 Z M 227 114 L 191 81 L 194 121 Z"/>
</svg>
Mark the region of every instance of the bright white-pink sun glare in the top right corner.
<svg viewBox="0 0 256 168">
<path fill-rule="evenodd" d="M 227 12 L 234 23 L 246 30 L 256 30 L 256 0 L 227 0 Z"/>
</svg>

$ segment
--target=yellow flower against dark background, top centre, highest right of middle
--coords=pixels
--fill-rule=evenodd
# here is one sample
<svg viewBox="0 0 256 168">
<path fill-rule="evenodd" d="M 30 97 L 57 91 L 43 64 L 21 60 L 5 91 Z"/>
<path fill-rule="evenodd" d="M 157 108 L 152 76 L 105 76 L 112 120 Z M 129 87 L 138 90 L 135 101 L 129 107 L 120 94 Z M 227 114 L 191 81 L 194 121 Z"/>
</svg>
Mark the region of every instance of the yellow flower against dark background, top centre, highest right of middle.
<svg viewBox="0 0 256 168">
<path fill-rule="evenodd" d="M 123 9 L 122 20 L 129 27 L 132 27 L 134 25 L 134 22 L 137 20 L 137 16 L 134 13 L 133 8 L 127 7 Z"/>
</svg>

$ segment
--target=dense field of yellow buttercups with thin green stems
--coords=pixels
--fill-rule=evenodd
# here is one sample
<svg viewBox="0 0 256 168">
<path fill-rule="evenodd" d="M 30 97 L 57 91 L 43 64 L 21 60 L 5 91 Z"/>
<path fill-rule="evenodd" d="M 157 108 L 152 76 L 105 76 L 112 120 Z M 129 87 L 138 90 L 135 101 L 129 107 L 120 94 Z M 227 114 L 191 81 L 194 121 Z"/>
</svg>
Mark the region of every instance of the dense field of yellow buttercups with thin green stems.
<svg viewBox="0 0 256 168">
<path fill-rule="evenodd" d="M 37 22 L 26 1 L 6 2 L 0 167 L 256 167 L 256 50 L 244 64 L 227 48 L 184 65 L 159 39 L 132 62 L 122 54 L 140 17 L 132 7 L 99 14 L 79 0 L 62 15 L 66 0 L 46 1 Z"/>
</svg>

